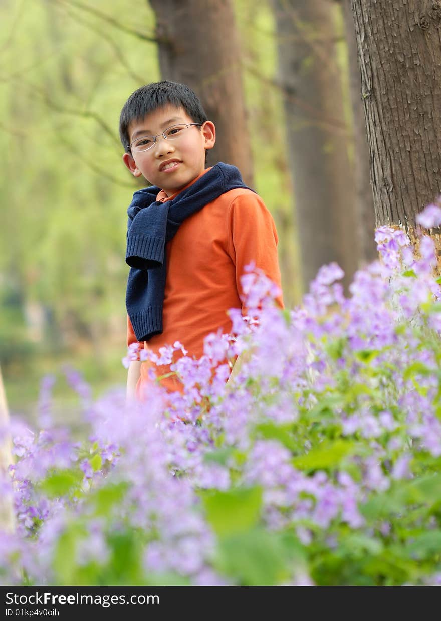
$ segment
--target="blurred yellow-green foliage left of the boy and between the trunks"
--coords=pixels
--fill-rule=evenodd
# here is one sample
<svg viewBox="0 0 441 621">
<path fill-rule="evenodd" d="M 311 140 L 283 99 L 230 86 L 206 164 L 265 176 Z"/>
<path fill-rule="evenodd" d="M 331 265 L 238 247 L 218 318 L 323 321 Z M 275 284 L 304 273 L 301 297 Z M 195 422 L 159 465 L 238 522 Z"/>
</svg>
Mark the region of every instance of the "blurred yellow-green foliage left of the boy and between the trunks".
<svg viewBox="0 0 441 621">
<path fill-rule="evenodd" d="M 289 303 L 299 291 L 274 24 L 263 0 L 235 9 L 255 184 L 280 232 Z M 64 361 L 96 391 L 125 381 L 126 208 L 145 182 L 122 165 L 117 127 L 127 96 L 160 75 L 147 1 L 4 0 L 0 21 L 0 365 L 11 409 L 31 415 L 40 378 Z"/>
</svg>

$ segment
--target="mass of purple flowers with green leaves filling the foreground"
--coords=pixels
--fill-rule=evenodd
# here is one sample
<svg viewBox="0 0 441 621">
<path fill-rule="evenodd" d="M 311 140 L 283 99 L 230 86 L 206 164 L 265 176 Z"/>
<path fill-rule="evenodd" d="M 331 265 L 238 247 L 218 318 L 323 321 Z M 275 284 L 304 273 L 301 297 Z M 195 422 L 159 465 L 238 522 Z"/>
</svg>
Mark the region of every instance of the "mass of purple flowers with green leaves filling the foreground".
<svg viewBox="0 0 441 621">
<path fill-rule="evenodd" d="M 441 207 L 419 216 L 441 224 Z M 301 306 L 248 266 L 232 333 L 153 355 L 183 389 L 96 402 L 71 369 L 88 439 L 40 398 L 14 424 L 0 481 L 16 528 L 6 584 L 439 584 L 441 288 L 432 238 L 376 232 L 378 261 L 343 294 L 323 266 Z M 129 349 L 127 366 L 138 351 Z M 227 383 L 237 356 L 240 367 Z M 239 364 L 239 362 L 238 362 Z"/>
</svg>

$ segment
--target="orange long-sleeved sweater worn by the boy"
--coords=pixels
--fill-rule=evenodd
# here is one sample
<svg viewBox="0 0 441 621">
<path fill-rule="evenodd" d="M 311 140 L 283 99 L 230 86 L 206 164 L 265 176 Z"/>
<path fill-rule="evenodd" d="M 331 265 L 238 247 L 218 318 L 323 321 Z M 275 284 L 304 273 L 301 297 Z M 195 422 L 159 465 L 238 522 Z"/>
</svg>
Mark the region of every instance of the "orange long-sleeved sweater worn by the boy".
<svg viewBox="0 0 441 621">
<path fill-rule="evenodd" d="M 165 202 L 175 196 L 161 191 L 157 200 Z M 281 287 L 277 242 L 273 217 L 261 198 L 247 189 L 230 190 L 184 220 L 166 244 L 163 333 L 139 343 L 140 348 L 158 353 L 160 347 L 178 340 L 189 356 L 202 356 L 207 334 L 219 328 L 230 332 L 227 311 L 242 308 L 240 276 L 247 263 L 254 261 Z M 281 296 L 278 302 L 283 306 Z M 127 317 L 127 345 L 136 342 Z M 150 362 L 141 365 L 139 396 L 143 384 L 150 381 L 150 366 Z M 170 368 L 157 368 L 158 375 L 165 373 Z M 182 386 L 175 377 L 163 379 L 161 385 L 169 391 Z"/>
</svg>

